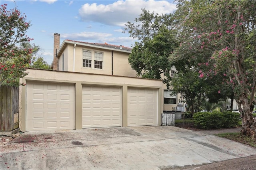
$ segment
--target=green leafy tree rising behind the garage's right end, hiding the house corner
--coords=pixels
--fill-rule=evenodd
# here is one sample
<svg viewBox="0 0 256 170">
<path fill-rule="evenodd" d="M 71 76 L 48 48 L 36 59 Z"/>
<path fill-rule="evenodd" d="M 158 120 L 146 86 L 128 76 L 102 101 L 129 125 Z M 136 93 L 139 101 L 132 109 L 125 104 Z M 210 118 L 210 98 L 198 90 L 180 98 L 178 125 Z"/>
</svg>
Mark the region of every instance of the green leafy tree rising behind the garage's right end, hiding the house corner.
<svg viewBox="0 0 256 170">
<path fill-rule="evenodd" d="M 130 37 L 138 38 L 128 61 L 137 72 L 144 78 L 161 79 L 161 74 L 170 70 L 169 55 L 176 47 L 175 34 L 172 31 L 171 14 L 154 14 L 142 9 L 142 14 L 128 22 L 125 30 Z"/>
</svg>

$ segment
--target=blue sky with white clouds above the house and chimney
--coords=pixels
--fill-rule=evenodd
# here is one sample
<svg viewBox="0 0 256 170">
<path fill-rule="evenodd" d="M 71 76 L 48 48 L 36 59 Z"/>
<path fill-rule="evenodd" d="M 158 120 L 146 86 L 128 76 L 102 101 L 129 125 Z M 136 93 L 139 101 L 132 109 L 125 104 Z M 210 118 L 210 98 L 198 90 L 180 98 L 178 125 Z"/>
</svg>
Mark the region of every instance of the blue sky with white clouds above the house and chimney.
<svg viewBox="0 0 256 170">
<path fill-rule="evenodd" d="M 48 63 L 53 59 L 53 34 L 63 40 L 109 43 L 132 47 L 136 40 L 122 33 L 124 24 L 134 22 L 145 8 L 150 12 L 172 13 L 172 0 L 1 0 L 7 9 L 17 6 L 32 26 L 27 35 L 40 46 L 38 55 Z"/>
</svg>

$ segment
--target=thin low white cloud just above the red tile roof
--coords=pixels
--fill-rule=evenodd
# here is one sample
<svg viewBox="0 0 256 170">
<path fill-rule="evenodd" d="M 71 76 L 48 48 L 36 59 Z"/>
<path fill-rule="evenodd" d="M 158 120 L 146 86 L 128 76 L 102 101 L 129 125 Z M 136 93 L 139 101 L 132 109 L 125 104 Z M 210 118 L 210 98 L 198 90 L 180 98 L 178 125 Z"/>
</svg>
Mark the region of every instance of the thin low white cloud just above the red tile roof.
<svg viewBox="0 0 256 170">
<path fill-rule="evenodd" d="M 60 37 L 68 40 L 100 40 L 112 36 L 108 33 L 80 32 L 73 34 L 61 34 Z"/>
</svg>

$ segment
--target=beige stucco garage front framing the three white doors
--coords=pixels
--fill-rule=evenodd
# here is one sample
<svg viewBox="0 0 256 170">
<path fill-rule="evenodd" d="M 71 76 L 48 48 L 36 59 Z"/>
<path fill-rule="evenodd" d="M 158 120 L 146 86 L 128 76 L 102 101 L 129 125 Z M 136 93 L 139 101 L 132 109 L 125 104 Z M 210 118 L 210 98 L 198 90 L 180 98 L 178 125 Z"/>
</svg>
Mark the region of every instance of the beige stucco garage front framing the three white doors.
<svg viewBox="0 0 256 170">
<path fill-rule="evenodd" d="M 161 125 L 162 113 L 162 81 L 156 79 L 142 79 L 137 77 L 123 77 L 115 75 L 100 75 L 90 73 L 74 73 L 66 71 L 51 71 L 28 69 L 28 75 L 22 79 L 22 83 L 28 81 L 46 81 L 55 83 L 74 83 L 76 93 L 76 122 L 75 128 L 82 128 L 82 85 L 110 85 L 119 86 L 122 89 L 122 126 L 127 126 L 127 89 L 129 87 L 153 88 L 158 90 L 158 125 Z M 20 128 L 26 131 L 26 86 L 21 87 L 21 111 Z"/>
</svg>

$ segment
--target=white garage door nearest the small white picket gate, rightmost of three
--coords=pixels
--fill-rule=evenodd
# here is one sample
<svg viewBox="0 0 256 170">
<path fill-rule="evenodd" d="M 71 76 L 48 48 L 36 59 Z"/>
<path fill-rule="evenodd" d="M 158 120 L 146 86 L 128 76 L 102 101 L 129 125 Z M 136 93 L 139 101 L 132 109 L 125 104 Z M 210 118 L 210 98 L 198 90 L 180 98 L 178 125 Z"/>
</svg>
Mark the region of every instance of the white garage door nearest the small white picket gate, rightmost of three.
<svg viewBox="0 0 256 170">
<path fill-rule="evenodd" d="M 157 90 L 128 88 L 128 126 L 157 125 Z"/>
</svg>

